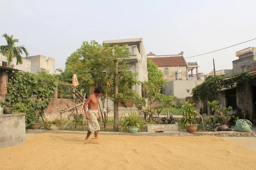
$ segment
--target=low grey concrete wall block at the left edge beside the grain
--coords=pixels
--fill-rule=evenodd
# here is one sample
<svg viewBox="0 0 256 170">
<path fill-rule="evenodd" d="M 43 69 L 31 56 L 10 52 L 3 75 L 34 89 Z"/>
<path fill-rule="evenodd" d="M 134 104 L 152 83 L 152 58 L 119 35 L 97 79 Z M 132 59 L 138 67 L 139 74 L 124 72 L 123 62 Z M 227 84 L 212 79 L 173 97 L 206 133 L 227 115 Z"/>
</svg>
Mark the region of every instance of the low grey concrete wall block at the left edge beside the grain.
<svg viewBox="0 0 256 170">
<path fill-rule="evenodd" d="M 0 148 L 26 143 L 25 114 L 0 115 Z"/>
</svg>

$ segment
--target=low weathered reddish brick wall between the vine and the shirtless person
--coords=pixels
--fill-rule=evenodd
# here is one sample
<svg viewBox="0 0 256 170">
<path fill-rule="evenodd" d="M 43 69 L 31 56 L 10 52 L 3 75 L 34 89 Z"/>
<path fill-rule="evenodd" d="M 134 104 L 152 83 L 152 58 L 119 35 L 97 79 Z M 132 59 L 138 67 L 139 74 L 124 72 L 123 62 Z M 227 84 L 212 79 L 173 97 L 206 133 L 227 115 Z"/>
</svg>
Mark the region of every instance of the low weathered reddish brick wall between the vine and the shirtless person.
<svg viewBox="0 0 256 170">
<path fill-rule="evenodd" d="M 60 118 L 60 113 L 58 111 L 64 110 L 69 107 L 75 105 L 74 99 L 52 99 L 51 103 L 47 106 L 44 114 L 45 117 L 49 120 Z M 79 111 L 81 110 L 82 106 L 79 106 Z M 66 117 L 67 118 L 67 117 Z"/>
</svg>

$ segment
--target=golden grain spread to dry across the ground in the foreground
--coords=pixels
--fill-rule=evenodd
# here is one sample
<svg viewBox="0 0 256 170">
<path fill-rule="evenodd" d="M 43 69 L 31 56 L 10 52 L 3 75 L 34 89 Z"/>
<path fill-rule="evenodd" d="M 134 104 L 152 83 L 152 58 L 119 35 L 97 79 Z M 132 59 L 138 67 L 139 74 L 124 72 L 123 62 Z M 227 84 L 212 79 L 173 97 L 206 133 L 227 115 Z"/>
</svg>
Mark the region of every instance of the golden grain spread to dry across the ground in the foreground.
<svg viewBox="0 0 256 170">
<path fill-rule="evenodd" d="M 0 149 L 0 170 L 251 170 L 256 150 L 215 136 L 112 136 L 43 133 Z"/>
</svg>

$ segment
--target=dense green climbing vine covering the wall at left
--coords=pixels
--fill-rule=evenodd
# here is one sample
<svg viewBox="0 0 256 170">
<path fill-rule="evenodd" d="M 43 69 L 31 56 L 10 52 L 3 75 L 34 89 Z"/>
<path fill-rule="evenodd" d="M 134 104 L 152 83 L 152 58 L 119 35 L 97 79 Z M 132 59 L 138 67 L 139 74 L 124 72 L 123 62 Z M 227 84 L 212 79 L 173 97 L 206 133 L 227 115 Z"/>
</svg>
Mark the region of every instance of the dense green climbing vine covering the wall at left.
<svg viewBox="0 0 256 170">
<path fill-rule="evenodd" d="M 56 87 L 55 77 L 51 74 L 45 77 L 43 73 L 9 72 L 6 102 L 1 105 L 11 105 L 16 110 L 25 111 L 27 128 L 32 122 L 38 121 L 38 116 L 44 117 L 44 109 L 50 104 Z M 20 103 L 23 104 L 22 109 L 19 108 Z"/>
</svg>

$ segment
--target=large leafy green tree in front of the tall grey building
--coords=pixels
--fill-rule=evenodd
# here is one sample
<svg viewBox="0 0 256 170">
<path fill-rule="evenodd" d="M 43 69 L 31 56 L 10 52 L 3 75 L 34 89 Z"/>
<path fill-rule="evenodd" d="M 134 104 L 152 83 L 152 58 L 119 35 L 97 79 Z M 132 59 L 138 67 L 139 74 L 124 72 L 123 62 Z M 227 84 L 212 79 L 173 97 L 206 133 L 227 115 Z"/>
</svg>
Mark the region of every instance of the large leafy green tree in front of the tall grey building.
<svg viewBox="0 0 256 170">
<path fill-rule="evenodd" d="M 110 47 L 109 44 L 100 45 L 96 41 L 83 42 L 81 48 L 77 49 L 67 58 L 66 70 L 75 71 L 78 79 L 87 85 L 87 88 L 102 86 L 105 94 L 101 96 L 103 108 L 108 108 L 108 99 L 120 102 L 123 107 L 128 107 L 125 101 L 134 101 L 134 91 L 131 87 L 136 85 L 137 74 L 127 71 L 127 62 L 122 59 L 128 58 L 130 52 L 126 49 L 127 45 Z M 115 72 L 115 60 L 119 60 L 118 86 L 119 97 L 113 98 L 113 83 Z M 102 111 L 102 108 L 100 108 Z M 102 113 L 104 125 L 108 120 L 107 113 Z M 106 126 L 105 126 L 106 128 Z"/>
</svg>

